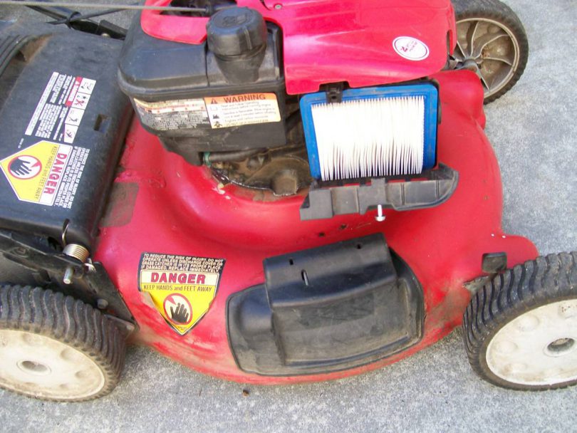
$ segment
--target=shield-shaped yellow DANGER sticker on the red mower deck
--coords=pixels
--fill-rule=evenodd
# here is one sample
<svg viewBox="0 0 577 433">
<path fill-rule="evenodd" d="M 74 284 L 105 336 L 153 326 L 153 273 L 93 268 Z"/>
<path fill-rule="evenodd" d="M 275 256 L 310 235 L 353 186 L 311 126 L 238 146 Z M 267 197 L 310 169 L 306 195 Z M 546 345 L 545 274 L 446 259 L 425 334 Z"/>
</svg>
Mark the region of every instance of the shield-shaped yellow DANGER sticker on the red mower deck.
<svg viewBox="0 0 577 433">
<path fill-rule="evenodd" d="M 166 323 L 184 335 L 209 310 L 223 268 L 224 259 L 143 253 L 138 290 L 148 293 Z"/>
</svg>

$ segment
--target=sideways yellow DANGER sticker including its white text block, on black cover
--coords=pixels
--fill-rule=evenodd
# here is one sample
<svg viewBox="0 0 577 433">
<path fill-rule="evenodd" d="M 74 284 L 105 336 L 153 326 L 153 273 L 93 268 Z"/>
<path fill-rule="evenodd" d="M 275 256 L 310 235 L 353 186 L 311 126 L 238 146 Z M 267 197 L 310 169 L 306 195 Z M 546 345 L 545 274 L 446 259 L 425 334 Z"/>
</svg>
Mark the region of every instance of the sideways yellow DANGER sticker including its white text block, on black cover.
<svg viewBox="0 0 577 433">
<path fill-rule="evenodd" d="M 70 209 L 88 152 L 41 141 L 4 158 L 0 167 L 19 200 Z"/>
</svg>

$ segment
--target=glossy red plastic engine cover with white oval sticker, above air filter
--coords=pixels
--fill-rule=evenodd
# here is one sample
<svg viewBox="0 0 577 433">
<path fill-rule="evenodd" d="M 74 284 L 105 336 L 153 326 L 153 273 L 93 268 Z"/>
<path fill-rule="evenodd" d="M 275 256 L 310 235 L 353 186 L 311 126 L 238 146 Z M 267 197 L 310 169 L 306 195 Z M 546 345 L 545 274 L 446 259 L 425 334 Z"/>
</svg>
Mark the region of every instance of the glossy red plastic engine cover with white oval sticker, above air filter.
<svg viewBox="0 0 577 433">
<path fill-rule="evenodd" d="M 318 91 L 346 81 L 353 88 L 414 80 L 436 73 L 454 46 L 454 12 L 449 0 L 237 0 L 259 11 L 283 31 L 286 91 Z M 166 6 L 170 0 L 147 0 Z M 279 9 L 278 6 L 281 6 Z M 206 18 L 142 12 L 142 29 L 156 38 L 201 43 Z M 416 38 L 428 49 L 421 60 L 400 56 L 393 42 Z M 448 39 L 447 39 L 448 38 Z M 411 47 L 399 46 L 399 51 Z M 409 56 L 410 57 L 410 56 Z"/>
</svg>

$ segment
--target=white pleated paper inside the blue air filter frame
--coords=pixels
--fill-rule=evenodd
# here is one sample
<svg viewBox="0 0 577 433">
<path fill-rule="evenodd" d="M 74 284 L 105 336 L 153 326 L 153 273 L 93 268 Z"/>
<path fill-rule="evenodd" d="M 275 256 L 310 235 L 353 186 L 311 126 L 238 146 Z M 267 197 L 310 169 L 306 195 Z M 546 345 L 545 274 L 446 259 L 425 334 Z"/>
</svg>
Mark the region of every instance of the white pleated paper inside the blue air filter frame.
<svg viewBox="0 0 577 433">
<path fill-rule="evenodd" d="M 312 115 L 323 180 L 422 172 L 424 97 L 318 104 Z"/>
</svg>

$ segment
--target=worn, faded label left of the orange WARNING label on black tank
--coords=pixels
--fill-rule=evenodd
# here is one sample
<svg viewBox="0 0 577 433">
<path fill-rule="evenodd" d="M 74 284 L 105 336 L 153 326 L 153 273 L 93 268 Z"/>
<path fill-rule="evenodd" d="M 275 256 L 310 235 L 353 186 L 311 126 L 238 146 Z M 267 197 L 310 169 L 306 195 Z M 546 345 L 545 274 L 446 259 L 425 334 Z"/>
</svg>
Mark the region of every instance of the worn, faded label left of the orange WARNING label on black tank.
<svg viewBox="0 0 577 433">
<path fill-rule="evenodd" d="M 147 103 L 135 98 L 135 108 L 145 125 L 158 131 L 210 127 L 202 99 L 177 99 Z"/>
</svg>

